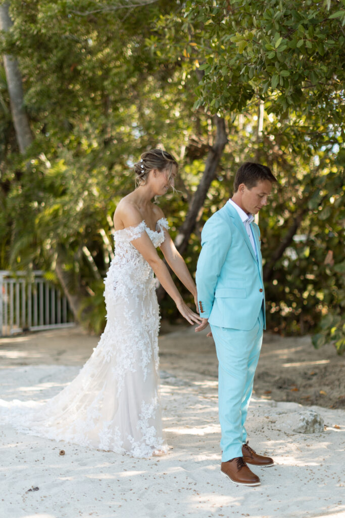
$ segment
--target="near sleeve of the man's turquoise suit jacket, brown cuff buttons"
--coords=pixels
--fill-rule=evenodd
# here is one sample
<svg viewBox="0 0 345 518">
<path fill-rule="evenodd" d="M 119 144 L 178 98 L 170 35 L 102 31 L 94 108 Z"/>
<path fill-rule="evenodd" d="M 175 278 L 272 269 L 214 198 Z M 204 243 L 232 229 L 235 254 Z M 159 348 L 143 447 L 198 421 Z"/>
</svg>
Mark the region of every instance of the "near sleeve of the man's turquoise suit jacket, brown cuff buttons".
<svg viewBox="0 0 345 518">
<path fill-rule="evenodd" d="M 231 245 L 230 225 L 214 214 L 201 233 L 196 284 L 200 316 L 208 319 L 211 314 L 218 277 Z"/>
</svg>

